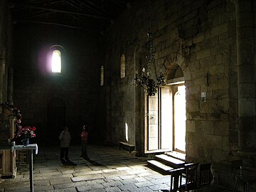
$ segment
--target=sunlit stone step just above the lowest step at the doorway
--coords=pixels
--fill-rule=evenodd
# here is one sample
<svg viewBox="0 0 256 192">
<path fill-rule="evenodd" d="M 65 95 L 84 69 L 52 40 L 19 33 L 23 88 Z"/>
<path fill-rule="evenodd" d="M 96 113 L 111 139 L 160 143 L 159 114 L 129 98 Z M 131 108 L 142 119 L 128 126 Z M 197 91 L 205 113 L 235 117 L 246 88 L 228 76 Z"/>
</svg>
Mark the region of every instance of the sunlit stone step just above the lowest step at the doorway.
<svg viewBox="0 0 256 192">
<path fill-rule="evenodd" d="M 166 154 L 156 155 L 155 160 L 160 161 L 163 164 L 166 164 L 166 166 L 171 166 L 174 169 L 180 168 L 185 164 L 185 161 L 181 161 L 180 159 L 176 159 L 176 158 L 168 156 Z"/>
</svg>

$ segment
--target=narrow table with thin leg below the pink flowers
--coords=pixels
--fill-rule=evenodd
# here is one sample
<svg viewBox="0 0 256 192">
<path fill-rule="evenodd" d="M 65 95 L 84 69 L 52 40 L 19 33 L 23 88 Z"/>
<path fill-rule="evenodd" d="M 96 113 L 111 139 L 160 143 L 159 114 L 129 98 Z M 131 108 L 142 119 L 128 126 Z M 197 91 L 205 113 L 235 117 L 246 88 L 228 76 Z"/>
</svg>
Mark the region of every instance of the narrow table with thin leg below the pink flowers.
<svg viewBox="0 0 256 192">
<path fill-rule="evenodd" d="M 11 151 L 15 150 L 29 150 L 29 154 L 31 156 L 29 161 L 29 183 L 30 183 L 30 191 L 33 192 L 33 150 L 36 151 L 36 154 L 38 154 L 38 146 L 37 144 L 28 144 L 26 146 L 24 145 L 14 145 L 11 146 Z"/>
</svg>

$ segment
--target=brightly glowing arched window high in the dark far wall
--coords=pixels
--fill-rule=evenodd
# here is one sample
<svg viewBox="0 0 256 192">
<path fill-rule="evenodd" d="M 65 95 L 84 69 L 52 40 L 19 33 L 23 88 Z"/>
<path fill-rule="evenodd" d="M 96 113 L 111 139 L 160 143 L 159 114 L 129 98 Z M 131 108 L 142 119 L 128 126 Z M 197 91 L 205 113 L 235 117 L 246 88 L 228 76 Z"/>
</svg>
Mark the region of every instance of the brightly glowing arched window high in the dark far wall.
<svg viewBox="0 0 256 192">
<path fill-rule="evenodd" d="M 53 75 L 63 75 L 65 72 L 65 50 L 62 46 L 51 46 L 49 49 L 49 68 Z"/>
</svg>

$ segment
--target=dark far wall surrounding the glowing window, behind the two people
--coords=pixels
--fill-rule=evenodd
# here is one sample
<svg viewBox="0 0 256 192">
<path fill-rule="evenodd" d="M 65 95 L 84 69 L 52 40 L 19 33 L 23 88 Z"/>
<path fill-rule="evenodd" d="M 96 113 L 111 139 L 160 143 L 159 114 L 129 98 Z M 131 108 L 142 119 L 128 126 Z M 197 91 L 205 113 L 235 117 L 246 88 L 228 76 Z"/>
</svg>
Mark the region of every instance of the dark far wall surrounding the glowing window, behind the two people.
<svg viewBox="0 0 256 192">
<path fill-rule="evenodd" d="M 90 142 L 101 140 L 97 37 L 73 28 L 16 23 L 15 42 L 14 102 L 22 124 L 36 126 L 37 142 L 58 144 L 60 131 L 68 126 L 72 143 L 79 144 L 82 124 L 90 126 Z M 46 70 L 46 53 L 53 45 L 65 49 L 61 76 Z M 54 118 L 59 122 L 50 124 Z"/>
</svg>

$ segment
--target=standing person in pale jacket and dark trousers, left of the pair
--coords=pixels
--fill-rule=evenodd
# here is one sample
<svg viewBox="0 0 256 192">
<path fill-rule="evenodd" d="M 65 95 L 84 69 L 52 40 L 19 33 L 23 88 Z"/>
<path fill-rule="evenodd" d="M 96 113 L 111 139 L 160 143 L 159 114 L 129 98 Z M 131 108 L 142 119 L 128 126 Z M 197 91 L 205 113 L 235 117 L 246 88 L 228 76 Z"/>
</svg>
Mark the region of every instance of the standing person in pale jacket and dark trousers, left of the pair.
<svg viewBox="0 0 256 192">
<path fill-rule="evenodd" d="M 60 161 L 63 164 L 69 163 L 70 160 L 68 159 L 68 147 L 70 146 L 71 136 L 70 132 L 68 131 L 68 127 L 64 128 L 64 131 L 60 133 Z M 65 159 L 64 159 L 65 156 Z"/>
</svg>

